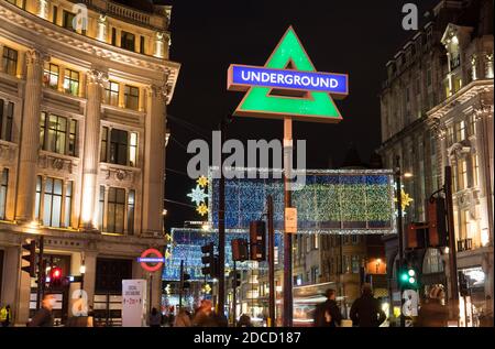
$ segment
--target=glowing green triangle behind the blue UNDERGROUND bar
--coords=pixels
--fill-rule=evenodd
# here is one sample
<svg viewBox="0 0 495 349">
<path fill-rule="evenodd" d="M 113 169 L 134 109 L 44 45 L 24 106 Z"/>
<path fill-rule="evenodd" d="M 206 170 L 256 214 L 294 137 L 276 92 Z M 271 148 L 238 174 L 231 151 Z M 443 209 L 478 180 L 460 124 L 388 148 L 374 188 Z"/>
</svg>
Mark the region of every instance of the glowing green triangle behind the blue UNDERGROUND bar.
<svg viewBox="0 0 495 349">
<path fill-rule="evenodd" d="M 293 67 L 301 72 L 316 72 L 306 50 L 293 26 L 285 32 L 277 47 L 274 50 L 266 68 L 286 69 Z M 340 122 L 342 116 L 333 98 L 328 92 L 309 91 L 308 97 L 292 98 L 270 96 L 268 87 L 251 87 L 237 108 L 234 116 L 257 118 L 293 117 L 302 121 Z"/>
</svg>

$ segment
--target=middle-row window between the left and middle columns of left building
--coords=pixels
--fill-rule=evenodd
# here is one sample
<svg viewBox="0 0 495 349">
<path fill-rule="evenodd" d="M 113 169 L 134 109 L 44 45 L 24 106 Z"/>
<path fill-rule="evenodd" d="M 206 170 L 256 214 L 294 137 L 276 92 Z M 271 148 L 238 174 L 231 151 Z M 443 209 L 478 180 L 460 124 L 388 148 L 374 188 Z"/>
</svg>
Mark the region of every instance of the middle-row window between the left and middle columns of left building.
<svg viewBox="0 0 495 349">
<path fill-rule="evenodd" d="M 76 156 L 77 121 L 42 112 L 40 144 L 45 151 Z"/>
</svg>

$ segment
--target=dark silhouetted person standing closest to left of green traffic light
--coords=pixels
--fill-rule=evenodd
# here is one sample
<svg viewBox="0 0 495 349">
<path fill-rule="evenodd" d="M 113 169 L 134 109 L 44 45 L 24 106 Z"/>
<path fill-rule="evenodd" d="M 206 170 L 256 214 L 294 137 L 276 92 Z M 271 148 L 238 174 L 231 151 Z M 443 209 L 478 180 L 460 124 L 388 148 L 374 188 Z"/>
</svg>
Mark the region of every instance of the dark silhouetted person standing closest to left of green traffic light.
<svg viewBox="0 0 495 349">
<path fill-rule="evenodd" d="M 363 285 L 362 295 L 352 304 L 350 315 L 353 324 L 359 327 L 378 327 L 387 318 L 380 301 L 373 297 L 370 284 Z"/>
</svg>

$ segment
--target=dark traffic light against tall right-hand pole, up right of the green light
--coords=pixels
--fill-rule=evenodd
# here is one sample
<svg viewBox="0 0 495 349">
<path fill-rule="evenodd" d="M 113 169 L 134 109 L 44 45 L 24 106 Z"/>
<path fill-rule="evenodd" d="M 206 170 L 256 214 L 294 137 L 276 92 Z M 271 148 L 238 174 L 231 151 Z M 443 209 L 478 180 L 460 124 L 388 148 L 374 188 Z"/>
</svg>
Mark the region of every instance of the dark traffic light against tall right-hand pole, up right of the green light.
<svg viewBox="0 0 495 349">
<path fill-rule="evenodd" d="M 428 246 L 447 246 L 447 210 L 446 199 L 442 197 L 432 197 L 428 201 Z"/>
</svg>

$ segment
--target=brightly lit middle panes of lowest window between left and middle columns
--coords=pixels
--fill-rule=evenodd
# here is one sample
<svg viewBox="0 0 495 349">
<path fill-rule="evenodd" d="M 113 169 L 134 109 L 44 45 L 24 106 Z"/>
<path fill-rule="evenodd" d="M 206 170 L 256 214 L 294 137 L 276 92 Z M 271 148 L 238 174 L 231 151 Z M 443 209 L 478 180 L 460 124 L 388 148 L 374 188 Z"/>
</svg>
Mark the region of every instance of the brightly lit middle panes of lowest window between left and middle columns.
<svg viewBox="0 0 495 349">
<path fill-rule="evenodd" d="M 62 179 L 47 177 L 43 195 L 43 226 L 62 227 Z"/>
</svg>

